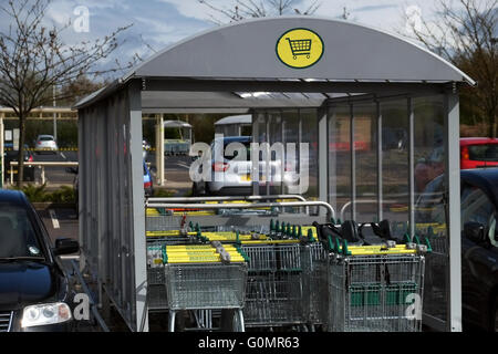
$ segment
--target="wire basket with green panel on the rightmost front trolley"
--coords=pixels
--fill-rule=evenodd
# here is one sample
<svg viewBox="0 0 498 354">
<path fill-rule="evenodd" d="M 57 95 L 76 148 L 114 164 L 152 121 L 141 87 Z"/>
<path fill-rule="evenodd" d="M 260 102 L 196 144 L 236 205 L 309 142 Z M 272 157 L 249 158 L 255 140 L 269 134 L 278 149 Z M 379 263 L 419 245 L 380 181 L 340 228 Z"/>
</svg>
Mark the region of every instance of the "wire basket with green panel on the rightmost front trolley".
<svg viewBox="0 0 498 354">
<path fill-rule="evenodd" d="M 340 256 L 322 262 L 332 332 L 419 332 L 425 258 L 418 253 Z M 419 308 L 415 308 L 419 306 Z"/>
</svg>

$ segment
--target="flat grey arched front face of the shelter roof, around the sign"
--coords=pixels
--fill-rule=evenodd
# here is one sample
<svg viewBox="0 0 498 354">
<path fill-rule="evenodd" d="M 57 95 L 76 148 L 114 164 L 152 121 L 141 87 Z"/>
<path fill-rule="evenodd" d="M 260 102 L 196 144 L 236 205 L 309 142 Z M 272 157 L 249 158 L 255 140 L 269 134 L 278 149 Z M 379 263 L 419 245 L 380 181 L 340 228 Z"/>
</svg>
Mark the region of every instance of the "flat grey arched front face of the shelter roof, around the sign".
<svg viewBox="0 0 498 354">
<path fill-rule="evenodd" d="M 282 65 L 276 55 L 277 40 L 294 28 L 310 29 L 323 41 L 320 61 L 303 70 Z M 131 76 L 474 83 L 448 62 L 398 35 L 317 17 L 264 18 L 215 28 L 157 53 Z"/>
</svg>

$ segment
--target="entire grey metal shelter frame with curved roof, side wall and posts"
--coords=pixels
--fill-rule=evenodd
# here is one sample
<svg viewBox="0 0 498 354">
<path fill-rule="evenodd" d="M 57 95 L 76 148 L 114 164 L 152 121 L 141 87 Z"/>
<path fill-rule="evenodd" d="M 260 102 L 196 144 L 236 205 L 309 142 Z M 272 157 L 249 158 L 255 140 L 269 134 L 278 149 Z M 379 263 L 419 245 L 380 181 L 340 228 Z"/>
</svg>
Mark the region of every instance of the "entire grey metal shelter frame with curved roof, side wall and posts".
<svg viewBox="0 0 498 354">
<path fill-rule="evenodd" d="M 324 52 L 305 69 L 284 65 L 276 43 L 290 29 L 319 33 Z M 328 201 L 328 108 L 361 102 L 377 107 L 405 97 L 408 111 L 409 226 L 414 222 L 414 119 L 412 100 L 444 97 L 448 190 L 449 270 L 447 317 L 427 323 L 461 331 L 459 98 L 475 82 L 443 59 L 406 40 L 369 27 L 315 17 L 248 20 L 219 27 L 157 53 L 127 75 L 76 104 L 80 144 L 80 241 L 86 262 L 134 331 L 148 329 L 142 114 L 318 110 L 318 197 Z M 382 115 L 377 114 L 382 122 Z M 351 125 L 354 126 L 353 113 Z M 352 129 L 353 131 L 353 129 Z M 352 133 L 350 146 L 354 144 Z M 377 142 L 377 146 L 380 143 Z M 382 148 L 377 155 L 382 186 Z M 352 185 L 355 154 L 351 154 Z M 382 188 L 378 204 L 382 202 Z M 352 191 L 355 215 L 355 191 Z M 382 209 L 380 209 L 382 216 Z"/>
</svg>

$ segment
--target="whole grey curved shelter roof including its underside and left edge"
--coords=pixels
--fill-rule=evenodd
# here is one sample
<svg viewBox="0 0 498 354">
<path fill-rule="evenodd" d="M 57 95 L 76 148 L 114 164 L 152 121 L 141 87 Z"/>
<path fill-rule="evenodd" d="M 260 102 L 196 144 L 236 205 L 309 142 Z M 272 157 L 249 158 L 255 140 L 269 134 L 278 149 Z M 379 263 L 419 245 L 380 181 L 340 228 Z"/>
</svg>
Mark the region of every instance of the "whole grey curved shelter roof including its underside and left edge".
<svg viewBox="0 0 498 354">
<path fill-rule="evenodd" d="M 279 58 L 278 42 L 292 29 L 312 31 L 322 41 L 320 59 L 308 67 L 291 67 Z M 475 84 L 447 61 L 398 35 L 308 15 L 246 20 L 196 34 L 153 55 L 76 107 L 110 95 L 131 80 L 142 80 L 147 92 L 142 97 L 144 113 L 162 107 L 208 108 L 215 101 L 219 108 L 243 107 L 241 113 L 261 105 L 319 106 L 336 93 L 377 92 L 380 83 L 398 84 L 391 85 L 392 92 L 403 91 L 405 86 L 400 85 L 412 90 L 416 84 Z M 225 85 L 212 88 L 210 81 Z M 279 86 L 264 90 L 269 82 Z M 362 86 L 354 86 L 357 83 Z"/>
</svg>

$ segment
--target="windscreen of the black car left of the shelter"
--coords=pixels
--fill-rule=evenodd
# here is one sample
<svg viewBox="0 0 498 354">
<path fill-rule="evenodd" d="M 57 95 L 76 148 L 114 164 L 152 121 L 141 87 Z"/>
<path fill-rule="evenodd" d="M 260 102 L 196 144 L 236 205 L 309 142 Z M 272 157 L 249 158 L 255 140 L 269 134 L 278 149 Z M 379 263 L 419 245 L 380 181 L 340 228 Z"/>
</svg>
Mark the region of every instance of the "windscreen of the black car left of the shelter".
<svg viewBox="0 0 498 354">
<path fill-rule="evenodd" d="M 0 258 L 43 257 L 28 210 L 0 204 Z"/>
</svg>

